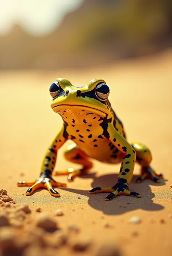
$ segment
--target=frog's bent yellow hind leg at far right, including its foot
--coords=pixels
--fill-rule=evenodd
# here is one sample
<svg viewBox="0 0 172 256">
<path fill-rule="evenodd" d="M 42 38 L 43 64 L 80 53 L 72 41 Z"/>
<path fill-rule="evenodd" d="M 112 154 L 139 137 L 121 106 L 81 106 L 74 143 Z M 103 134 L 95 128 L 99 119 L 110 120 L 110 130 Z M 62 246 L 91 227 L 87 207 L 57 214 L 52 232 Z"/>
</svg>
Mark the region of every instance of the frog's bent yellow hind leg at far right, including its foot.
<svg viewBox="0 0 172 256">
<path fill-rule="evenodd" d="M 151 151 L 147 146 L 142 143 L 132 143 L 131 146 L 136 151 L 136 162 L 141 165 L 141 176 L 136 182 L 141 183 L 144 179 L 152 179 L 159 183 L 160 178 L 163 179 L 163 174 L 158 173 L 152 169 L 150 166 L 152 161 Z"/>
</svg>

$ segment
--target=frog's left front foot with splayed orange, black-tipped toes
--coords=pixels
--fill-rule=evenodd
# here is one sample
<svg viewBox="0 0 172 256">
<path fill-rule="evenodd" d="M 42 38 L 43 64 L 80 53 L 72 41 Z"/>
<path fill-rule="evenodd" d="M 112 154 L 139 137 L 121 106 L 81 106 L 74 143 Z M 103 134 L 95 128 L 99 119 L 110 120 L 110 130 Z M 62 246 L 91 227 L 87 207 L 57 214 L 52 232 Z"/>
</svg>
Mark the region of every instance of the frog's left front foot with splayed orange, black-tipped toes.
<svg viewBox="0 0 172 256">
<path fill-rule="evenodd" d="M 48 175 L 49 176 L 49 175 Z M 50 176 L 48 177 L 45 174 L 41 174 L 40 178 L 31 182 L 20 181 L 17 183 L 19 187 L 29 186 L 30 188 L 26 191 L 26 196 L 31 195 L 35 190 L 39 188 L 45 188 L 49 191 L 52 196 L 59 197 L 60 194 L 54 190 L 53 187 L 66 187 L 66 184 L 56 182 Z"/>
</svg>

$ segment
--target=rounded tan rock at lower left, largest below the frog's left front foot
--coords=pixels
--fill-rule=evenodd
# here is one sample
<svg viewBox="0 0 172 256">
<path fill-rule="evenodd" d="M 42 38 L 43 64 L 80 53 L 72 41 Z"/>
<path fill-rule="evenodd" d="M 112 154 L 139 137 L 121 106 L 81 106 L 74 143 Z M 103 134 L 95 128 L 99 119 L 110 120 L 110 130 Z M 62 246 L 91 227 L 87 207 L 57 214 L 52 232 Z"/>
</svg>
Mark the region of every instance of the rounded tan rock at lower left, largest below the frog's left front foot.
<svg viewBox="0 0 172 256">
<path fill-rule="evenodd" d="M 46 231 L 55 231 L 58 229 L 56 221 L 47 214 L 38 215 L 36 225 Z"/>
</svg>

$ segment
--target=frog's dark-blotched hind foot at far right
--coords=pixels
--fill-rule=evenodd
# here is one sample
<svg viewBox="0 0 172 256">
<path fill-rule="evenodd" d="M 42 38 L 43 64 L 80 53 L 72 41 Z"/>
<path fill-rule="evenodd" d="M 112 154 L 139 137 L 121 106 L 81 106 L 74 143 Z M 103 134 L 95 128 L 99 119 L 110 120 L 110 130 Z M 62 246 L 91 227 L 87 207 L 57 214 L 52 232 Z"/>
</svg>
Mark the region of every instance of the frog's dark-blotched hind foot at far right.
<svg viewBox="0 0 172 256">
<path fill-rule="evenodd" d="M 150 166 L 142 167 L 141 176 L 136 180 L 136 182 L 141 183 L 144 179 L 152 179 L 156 183 L 160 183 L 160 178 L 163 179 L 163 174 L 155 172 Z"/>
</svg>

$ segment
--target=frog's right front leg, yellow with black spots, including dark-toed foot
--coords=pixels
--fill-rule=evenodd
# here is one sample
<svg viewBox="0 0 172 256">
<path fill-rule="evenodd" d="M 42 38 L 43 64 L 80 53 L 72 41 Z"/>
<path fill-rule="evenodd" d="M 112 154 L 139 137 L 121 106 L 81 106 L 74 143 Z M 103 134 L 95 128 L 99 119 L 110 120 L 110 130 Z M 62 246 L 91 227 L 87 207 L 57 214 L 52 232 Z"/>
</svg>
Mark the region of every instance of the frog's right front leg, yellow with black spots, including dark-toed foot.
<svg viewBox="0 0 172 256">
<path fill-rule="evenodd" d="M 105 130 L 103 131 L 102 136 L 108 139 L 111 143 L 113 143 L 114 146 L 122 153 L 124 153 L 125 156 L 120 167 L 118 182 L 114 186 L 108 188 L 93 188 L 89 191 L 89 194 L 111 192 L 105 198 L 106 201 L 111 200 L 115 196 L 119 195 L 141 197 L 139 193 L 130 192 L 128 190 L 128 186 L 133 176 L 134 165 L 136 161 L 136 151 L 126 141 L 126 139 L 114 129 L 111 123 L 108 123 L 108 126 L 105 126 Z"/>
</svg>

